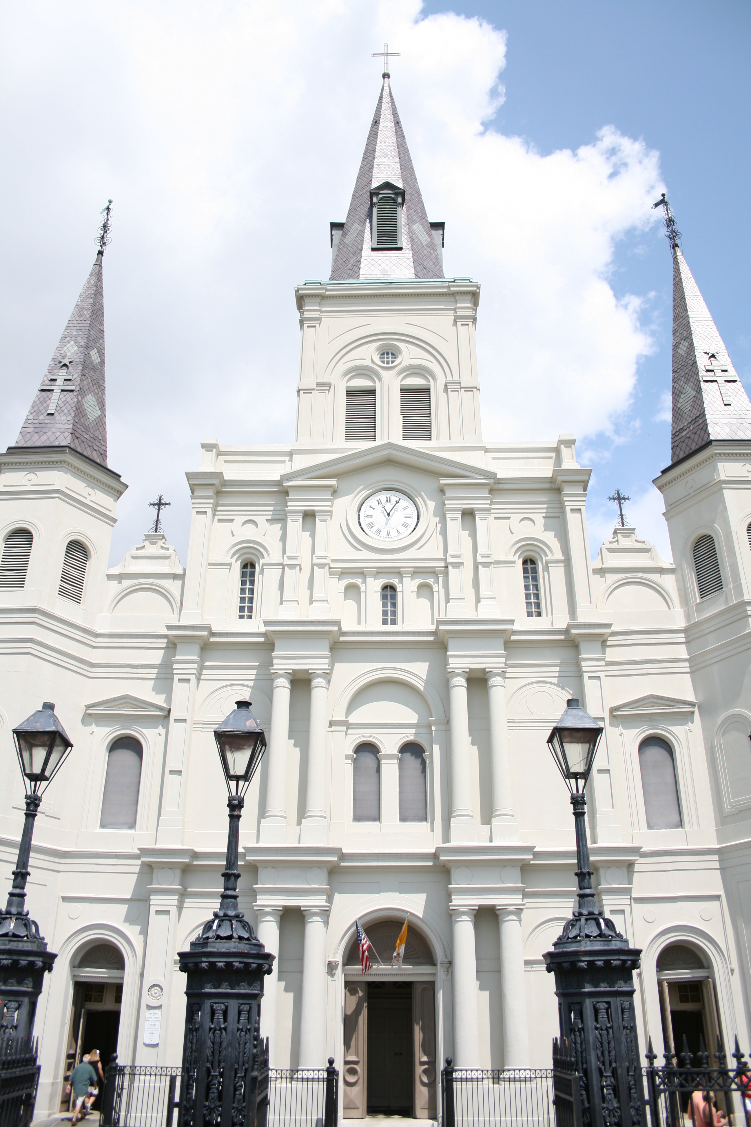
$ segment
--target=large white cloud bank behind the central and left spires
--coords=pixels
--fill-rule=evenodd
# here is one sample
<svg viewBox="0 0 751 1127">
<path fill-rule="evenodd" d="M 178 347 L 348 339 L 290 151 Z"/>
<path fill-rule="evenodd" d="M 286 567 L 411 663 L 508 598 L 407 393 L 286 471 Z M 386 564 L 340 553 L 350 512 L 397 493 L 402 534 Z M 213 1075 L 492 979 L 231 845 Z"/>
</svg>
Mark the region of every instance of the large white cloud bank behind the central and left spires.
<svg viewBox="0 0 751 1127">
<path fill-rule="evenodd" d="M 640 296 L 617 300 L 608 272 L 616 240 L 655 221 L 658 156 L 610 127 L 547 157 L 484 130 L 506 33 L 420 19 L 419 0 L 29 0 L 5 38 L 0 441 L 16 438 L 111 196 L 109 461 L 131 483 L 114 558 L 160 490 L 185 558 L 182 474 L 202 438 L 292 441 L 293 285 L 329 274 L 384 39 L 402 52 L 394 96 L 428 213 L 447 223 L 446 270 L 483 284 L 485 437 L 582 438 L 627 409 L 651 343 Z"/>
</svg>

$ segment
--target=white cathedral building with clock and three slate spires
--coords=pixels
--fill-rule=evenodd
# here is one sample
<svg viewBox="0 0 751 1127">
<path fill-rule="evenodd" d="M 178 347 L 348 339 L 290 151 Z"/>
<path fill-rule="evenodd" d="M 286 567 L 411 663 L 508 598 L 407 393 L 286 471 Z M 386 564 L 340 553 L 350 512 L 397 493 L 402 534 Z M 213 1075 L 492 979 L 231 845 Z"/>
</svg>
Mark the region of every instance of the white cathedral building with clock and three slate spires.
<svg viewBox="0 0 751 1127">
<path fill-rule="evenodd" d="M 240 907 L 276 956 L 262 1030 L 277 1067 L 334 1057 L 341 1116 L 435 1118 L 447 1056 L 549 1067 L 543 953 L 575 851 L 546 738 L 570 696 L 605 727 L 593 880 L 643 950 L 641 1051 L 749 1046 L 751 405 L 673 248 L 655 483 L 674 565 L 628 526 L 592 564 L 573 436 L 482 438 L 480 285 L 444 277 L 442 240 L 385 76 L 331 277 L 295 290 L 295 441 L 202 444 L 185 567 L 151 533 L 107 568 L 126 486 L 101 254 L 0 456 L 7 885 L 11 729 L 50 700 L 74 744 L 28 885 L 57 952 L 37 1116 L 92 1047 L 180 1062 L 177 952 L 217 906 L 226 842 L 213 729 L 240 698 L 268 736 L 240 828 Z M 365 976 L 356 920 L 383 964 Z"/>
</svg>

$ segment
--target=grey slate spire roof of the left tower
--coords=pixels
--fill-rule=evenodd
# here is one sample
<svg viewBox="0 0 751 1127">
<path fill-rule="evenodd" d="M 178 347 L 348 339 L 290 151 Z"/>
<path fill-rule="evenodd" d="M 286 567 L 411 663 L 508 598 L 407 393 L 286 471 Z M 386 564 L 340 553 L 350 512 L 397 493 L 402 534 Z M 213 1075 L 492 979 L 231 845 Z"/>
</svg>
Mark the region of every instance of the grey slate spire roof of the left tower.
<svg viewBox="0 0 751 1127">
<path fill-rule="evenodd" d="M 107 465 L 101 263 L 99 250 L 11 449 L 70 446 L 99 465 Z"/>
</svg>

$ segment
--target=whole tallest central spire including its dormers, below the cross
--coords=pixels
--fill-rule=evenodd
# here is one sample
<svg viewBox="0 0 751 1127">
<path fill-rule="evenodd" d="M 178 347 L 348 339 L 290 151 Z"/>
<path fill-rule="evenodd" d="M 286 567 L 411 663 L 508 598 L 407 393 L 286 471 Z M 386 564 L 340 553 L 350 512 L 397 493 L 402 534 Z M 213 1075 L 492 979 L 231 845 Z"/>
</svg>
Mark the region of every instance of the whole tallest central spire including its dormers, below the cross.
<svg viewBox="0 0 751 1127">
<path fill-rule="evenodd" d="M 442 278 L 444 224 L 430 223 L 384 73 L 347 221 L 331 224 L 332 282 Z"/>
</svg>

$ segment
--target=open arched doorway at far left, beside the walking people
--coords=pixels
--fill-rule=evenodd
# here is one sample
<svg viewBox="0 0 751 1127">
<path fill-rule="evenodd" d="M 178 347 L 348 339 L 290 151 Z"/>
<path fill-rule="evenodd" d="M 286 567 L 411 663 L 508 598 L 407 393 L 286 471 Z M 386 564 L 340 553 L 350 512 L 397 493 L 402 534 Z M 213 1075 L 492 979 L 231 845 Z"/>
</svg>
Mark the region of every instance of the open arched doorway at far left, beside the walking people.
<svg viewBox="0 0 751 1127">
<path fill-rule="evenodd" d="M 69 1109 L 70 1097 L 65 1089 L 72 1070 L 83 1056 L 91 1049 L 97 1049 L 104 1071 L 113 1053 L 117 1051 L 125 959 L 113 943 L 93 942 L 74 959 L 71 973 L 73 1002 L 68 1029 L 61 1111 Z M 104 1085 L 99 1084 L 99 1095 L 93 1103 L 96 1110 L 101 1106 L 102 1089 Z"/>
</svg>

